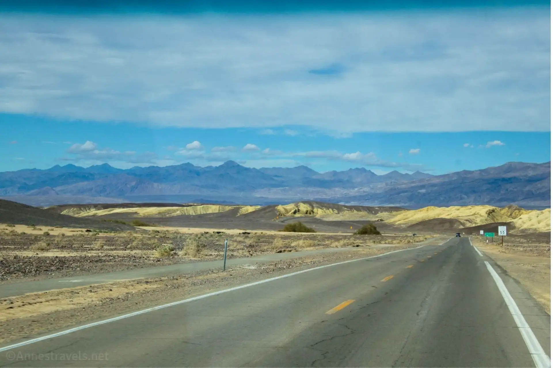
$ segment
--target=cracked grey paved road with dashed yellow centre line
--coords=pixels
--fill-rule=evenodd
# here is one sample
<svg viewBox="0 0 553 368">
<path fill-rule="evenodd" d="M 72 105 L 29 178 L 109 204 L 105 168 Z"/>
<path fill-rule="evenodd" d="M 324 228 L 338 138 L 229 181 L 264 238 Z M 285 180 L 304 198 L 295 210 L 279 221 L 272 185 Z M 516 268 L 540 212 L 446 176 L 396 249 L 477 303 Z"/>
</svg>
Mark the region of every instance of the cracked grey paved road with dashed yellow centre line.
<svg viewBox="0 0 553 368">
<path fill-rule="evenodd" d="M 12 346 L 0 366 L 535 366 L 517 310 L 549 355 L 549 316 L 467 238 L 453 238 Z"/>
</svg>

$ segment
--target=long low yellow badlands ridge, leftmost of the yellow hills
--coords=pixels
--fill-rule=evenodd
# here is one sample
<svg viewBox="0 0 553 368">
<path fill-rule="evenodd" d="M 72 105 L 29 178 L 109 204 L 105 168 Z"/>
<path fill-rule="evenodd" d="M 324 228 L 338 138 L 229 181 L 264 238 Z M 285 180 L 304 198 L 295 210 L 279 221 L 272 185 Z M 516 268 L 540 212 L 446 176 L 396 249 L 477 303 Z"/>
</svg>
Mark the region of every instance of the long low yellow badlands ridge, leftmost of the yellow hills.
<svg viewBox="0 0 553 368">
<path fill-rule="evenodd" d="M 255 211 L 261 206 L 225 206 L 225 205 L 196 205 L 189 207 L 134 207 L 134 208 L 111 208 L 98 210 L 93 207 L 81 207 L 67 209 L 61 212 L 64 215 L 75 217 L 103 216 L 112 214 L 130 213 L 138 217 L 171 217 L 180 215 L 203 215 L 216 214 L 239 208 L 238 215 Z"/>
</svg>

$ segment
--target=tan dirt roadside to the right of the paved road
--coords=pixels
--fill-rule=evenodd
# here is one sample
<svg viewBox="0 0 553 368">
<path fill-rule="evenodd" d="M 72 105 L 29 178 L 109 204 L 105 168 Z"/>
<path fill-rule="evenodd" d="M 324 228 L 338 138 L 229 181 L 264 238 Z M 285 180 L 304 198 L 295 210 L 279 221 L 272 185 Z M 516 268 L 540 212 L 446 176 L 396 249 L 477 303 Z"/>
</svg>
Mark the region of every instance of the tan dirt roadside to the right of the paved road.
<svg viewBox="0 0 553 368">
<path fill-rule="evenodd" d="M 486 243 L 473 237 L 472 243 L 489 255 L 551 314 L 551 243 L 547 234 L 526 234 L 505 237 L 503 246 L 498 238 Z"/>
</svg>

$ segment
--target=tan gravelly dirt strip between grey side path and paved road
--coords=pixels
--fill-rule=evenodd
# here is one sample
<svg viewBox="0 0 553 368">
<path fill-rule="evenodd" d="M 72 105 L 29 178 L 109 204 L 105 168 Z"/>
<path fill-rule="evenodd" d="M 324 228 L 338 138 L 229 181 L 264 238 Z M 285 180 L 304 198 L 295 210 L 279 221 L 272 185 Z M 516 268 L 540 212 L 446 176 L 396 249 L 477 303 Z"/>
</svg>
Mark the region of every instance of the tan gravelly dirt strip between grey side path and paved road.
<svg viewBox="0 0 553 368">
<path fill-rule="evenodd" d="M 97 321 L 319 265 L 417 246 L 419 244 L 409 243 L 375 248 L 352 247 L 340 253 L 234 266 L 224 272 L 201 271 L 170 278 L 110 282 L 3 298 L 0 300 L 0 342 Z"/>
</svg>

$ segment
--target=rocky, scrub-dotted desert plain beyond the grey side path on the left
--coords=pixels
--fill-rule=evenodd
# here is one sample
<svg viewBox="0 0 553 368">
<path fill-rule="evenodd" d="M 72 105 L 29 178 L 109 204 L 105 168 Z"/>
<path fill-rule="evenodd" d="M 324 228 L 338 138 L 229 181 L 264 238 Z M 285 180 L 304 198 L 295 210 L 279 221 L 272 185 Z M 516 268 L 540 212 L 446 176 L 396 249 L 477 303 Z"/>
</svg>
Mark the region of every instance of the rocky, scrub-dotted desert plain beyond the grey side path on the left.
<svg viewBox="0 0 553 368">
<path fill-rule="evenodd" d="M 0 236 L 0 282 L 61 278 L 182 262 L 291 252 L 300 249 L 411 244 L 430 236 L 352 236 L 351 234 L 182 234 L 79 233 L 72 236 Z"/>
</svg>

